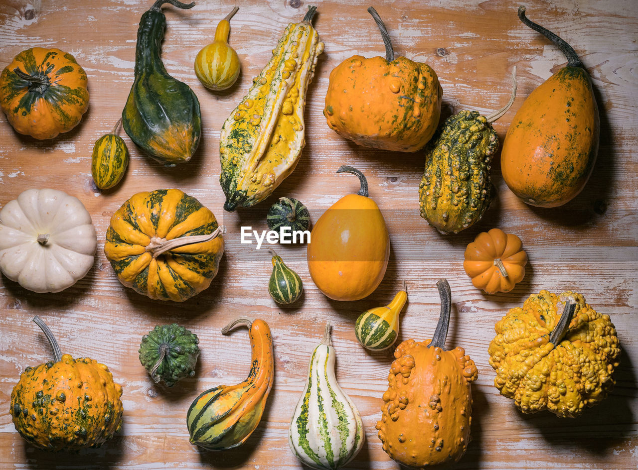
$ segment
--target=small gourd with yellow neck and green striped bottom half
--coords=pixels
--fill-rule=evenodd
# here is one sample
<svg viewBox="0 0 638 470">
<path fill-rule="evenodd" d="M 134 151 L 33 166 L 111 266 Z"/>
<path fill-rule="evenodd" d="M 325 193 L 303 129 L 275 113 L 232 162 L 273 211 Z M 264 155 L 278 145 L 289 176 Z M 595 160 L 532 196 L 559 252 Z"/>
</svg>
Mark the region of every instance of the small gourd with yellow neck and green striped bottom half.
<svg viewBox="0 0 638 470">
<path fill-rule="evenodd" d="M 385 307 L 364 311 L 355 324 L 355 336 L 359 343 L 371 351 L 381 351 L 394 345 L 399 334 L 399 313 L 408 300 L 405 281 L 392 302 Z"/>
</svg>

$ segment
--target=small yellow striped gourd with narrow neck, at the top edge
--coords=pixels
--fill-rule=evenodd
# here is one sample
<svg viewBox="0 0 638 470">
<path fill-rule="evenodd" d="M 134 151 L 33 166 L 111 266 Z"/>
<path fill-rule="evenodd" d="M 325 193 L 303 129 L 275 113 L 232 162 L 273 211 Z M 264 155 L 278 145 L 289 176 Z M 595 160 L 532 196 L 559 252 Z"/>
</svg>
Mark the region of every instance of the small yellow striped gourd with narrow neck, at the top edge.
<svg viewBox="0 0 638 470">
<path fill-rule="evenodd" d="M 230 18 L 237 13 L 237 6 L 221 20 L 215 30 L 215 39 L 204 46 L 195 57 L 195 75 L 211 90 L 225 90 L 232 87 L 239 76 L 241 64 L 237 52 L 228 45 Z"/>
</svg>

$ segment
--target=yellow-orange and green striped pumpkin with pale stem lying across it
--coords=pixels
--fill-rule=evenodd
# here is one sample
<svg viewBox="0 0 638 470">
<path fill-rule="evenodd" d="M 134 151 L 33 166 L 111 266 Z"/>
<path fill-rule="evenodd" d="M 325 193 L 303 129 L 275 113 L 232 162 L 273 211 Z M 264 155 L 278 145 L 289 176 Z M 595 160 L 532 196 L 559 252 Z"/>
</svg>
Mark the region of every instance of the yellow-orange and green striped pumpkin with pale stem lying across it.
<svg viewBox="0 0 638 470">
<path fill-rule="evenodd" d="M 126 287 L 182 302 L 211 285 L 222 233 L 214 214 L 179 189 L 138 192 L 111 217 L 104 253 Z"/>
</svg>

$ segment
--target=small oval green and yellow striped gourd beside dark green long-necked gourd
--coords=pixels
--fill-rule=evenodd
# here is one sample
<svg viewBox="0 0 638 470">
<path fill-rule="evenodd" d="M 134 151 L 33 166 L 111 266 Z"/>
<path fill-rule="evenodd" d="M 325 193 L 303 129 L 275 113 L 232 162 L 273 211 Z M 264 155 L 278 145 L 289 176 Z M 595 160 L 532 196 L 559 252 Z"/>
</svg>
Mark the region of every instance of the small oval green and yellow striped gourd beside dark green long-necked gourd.
<svg viewBox="0 0 638 470">
<path fill-rule="evenodd" d="M 91 155 L 91 175 L 100 189 L 111 189 L 122 180 L 128 166 L 128 148 L 124 139 L 117 135 L 117 121 L 110 134 L 101 136 L 93 146 Z"/>
</svg>

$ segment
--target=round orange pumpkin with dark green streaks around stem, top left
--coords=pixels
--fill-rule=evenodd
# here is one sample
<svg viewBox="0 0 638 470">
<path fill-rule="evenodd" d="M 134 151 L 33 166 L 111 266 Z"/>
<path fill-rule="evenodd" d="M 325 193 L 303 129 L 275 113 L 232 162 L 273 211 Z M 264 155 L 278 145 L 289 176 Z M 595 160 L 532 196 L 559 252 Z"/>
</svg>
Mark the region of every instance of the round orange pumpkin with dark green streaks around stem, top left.
<svg viewBox="0 0 638 470">
<path fill-rule="evenodd" d="M 23 50 L 0 75 L 0 106 L 20 134 L 52 139 L 73 129 L 89 108 L 86 73 L 68 52 Z"/>
</svg>

